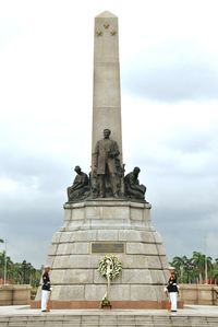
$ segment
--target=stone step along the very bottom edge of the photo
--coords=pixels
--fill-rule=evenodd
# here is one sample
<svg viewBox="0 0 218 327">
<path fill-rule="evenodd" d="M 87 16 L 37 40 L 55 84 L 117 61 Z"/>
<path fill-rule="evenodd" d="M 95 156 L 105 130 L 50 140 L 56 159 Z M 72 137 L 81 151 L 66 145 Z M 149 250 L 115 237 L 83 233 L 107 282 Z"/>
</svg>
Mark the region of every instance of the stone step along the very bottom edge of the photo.
<svg viewBox="0 0 218 327">
<path fill-rule="evenodd" d="M 217 316 L 186 315 L 13 315 L 0 327 L 218 327 Z"/>
</svg>

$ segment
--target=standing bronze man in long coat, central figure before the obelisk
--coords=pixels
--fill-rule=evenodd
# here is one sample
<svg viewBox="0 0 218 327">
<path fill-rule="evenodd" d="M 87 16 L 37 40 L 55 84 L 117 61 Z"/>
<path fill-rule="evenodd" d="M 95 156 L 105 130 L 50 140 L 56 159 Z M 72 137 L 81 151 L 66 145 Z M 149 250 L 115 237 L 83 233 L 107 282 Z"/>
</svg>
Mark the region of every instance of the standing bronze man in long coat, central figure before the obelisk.
<svg viewBox="0 0 218 327">
<path fill-rule="evenodd" d="M 117 162 L 120 151 L 118 143 L 110 139 L 110 133 L 109 129 L 104 129 L 104 139 L 97 141 L 93 157 L 93 179 L 100 198 L 119 197 Z"/>
</svg>

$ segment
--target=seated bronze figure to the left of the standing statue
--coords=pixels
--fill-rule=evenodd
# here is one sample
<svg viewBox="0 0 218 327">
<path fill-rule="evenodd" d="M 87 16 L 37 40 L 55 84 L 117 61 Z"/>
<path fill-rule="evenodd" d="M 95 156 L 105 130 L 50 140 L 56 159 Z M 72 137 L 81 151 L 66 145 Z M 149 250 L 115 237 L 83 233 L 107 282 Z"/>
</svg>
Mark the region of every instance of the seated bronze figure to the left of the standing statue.
<svg viewBox="0 0 218 327">
<path fill-rule="evenodd" d="M 66 189 L 69 201 L 82 200 L 89 195 L 88 176 L 82 172 L 80 166 L 75 166 L 74 171 L 77 175 L 75 176 L 73 185 Z"/>
</svg>

